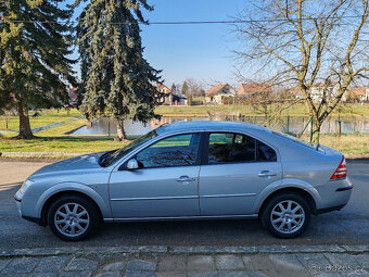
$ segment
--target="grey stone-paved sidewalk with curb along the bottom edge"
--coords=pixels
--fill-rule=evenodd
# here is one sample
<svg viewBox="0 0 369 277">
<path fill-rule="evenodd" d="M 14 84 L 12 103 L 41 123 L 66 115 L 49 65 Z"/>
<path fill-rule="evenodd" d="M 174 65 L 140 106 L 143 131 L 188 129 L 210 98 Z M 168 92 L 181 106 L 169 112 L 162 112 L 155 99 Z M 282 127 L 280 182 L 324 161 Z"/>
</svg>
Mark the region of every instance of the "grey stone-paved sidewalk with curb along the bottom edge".
<svg viewBox="0 0 369 277">
<path fill-rule="evenodd" d="M 24 249 L 0 276 L 369 276 L 369 245 Z"/>
</svg>

